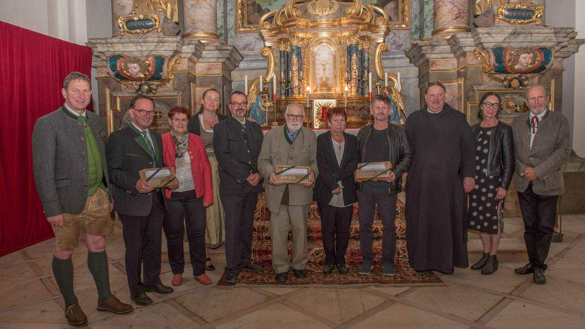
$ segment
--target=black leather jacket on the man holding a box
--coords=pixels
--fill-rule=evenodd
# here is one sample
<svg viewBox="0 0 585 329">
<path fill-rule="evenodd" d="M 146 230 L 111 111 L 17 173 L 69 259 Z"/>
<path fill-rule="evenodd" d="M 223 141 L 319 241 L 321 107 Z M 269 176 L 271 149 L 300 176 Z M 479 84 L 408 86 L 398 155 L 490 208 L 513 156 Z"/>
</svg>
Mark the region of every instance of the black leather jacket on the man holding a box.
<svg viewBox="0 0 585 329">
<path fill-rule="evenodd" d="M 357 132 L 357 143 L 360 151 L 360 162 L 363 162 L 364 156 L 366 156 L 366 145 L 367 140 L 370 137 L 371 129 L 373 124 L 363 126 L 359 132 Z M 410 151 L 410 145 L 406 137 L 404 128 L 398 125 L 390 124 L 386 129 L 388 136 L 388 159 L 392 163 L 392 170 L 396 175 L 396 179 L 391 182 L 388 187 L 388 194 L 397 194 L 402 189 L 402 174 L 408 172 L 410 165 L 412 165 L 412 153 Z M 359 190 L 362 190 L 362 184 L 359 184 Z"/>
</svg>

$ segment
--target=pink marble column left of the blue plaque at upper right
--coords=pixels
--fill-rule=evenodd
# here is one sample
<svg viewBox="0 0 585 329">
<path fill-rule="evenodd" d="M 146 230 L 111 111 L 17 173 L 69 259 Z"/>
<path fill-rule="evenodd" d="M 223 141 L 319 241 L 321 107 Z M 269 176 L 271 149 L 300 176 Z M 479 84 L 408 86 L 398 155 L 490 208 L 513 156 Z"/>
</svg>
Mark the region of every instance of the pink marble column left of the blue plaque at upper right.
<svg viewBox="0 0 585 329">
<path fill-rule="evenodd" d="M 434 0 L 435 29 L 433 36 L 449 36 L 469 32 L 468 0 Z"/>
</svg>

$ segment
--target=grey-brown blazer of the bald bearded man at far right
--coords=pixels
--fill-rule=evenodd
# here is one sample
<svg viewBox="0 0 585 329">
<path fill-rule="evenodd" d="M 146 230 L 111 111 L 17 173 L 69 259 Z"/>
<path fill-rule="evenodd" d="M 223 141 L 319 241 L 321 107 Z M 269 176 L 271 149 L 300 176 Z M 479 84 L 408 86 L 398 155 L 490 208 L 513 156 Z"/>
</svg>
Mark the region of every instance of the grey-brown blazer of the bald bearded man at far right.
<svg viewBox="0 0 585 329">
<path fill-rule="evenodd" d="M 538 179 L 532 183 L 534 193 L 541 196 L 563 194 L 565 182 L 561 167 L 569 159 L 569 122 L 564 115 L 546 110 L 539 122 L 532 148 L 530 148 L 529 113 L 525 112 L 512 121 L 516 167 L 512 182 L 514 189 L 524 192 L 529 181 L 521 176 L 526 167 L 533 167 Z"/>
</svg>

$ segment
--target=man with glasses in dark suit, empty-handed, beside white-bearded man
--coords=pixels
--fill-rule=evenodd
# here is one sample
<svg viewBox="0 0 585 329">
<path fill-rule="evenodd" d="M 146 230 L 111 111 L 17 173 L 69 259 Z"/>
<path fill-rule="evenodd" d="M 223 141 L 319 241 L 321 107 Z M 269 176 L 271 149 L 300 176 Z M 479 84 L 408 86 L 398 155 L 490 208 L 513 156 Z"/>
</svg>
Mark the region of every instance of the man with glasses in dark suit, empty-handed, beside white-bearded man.
<svg viewBox="0 0 585 329">
<path fill-rule="evenodd" d="M 260 272 L 252 263 L 252 224 L 258 193 L 262 191 L 258 155 L 264 137 L 260 125 L 246 120 L 246 95 L 230 95 L 230 118 L 214 126 L 214 152 L 219 164 L 219 196 L 225 210 L 225 266 L 227 283 L 236 283 L 240 270 Z"/>
</svg>

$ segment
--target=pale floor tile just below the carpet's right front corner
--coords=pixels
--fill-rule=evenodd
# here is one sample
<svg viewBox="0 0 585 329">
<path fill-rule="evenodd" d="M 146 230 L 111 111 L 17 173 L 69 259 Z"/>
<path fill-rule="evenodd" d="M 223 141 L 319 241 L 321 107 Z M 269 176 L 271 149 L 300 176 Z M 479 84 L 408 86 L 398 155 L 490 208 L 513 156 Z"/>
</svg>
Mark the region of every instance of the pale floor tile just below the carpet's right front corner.
<svg viewBox="0 0 585 329">
<path fill-rule="evenodd" d="M 503 299 L 462 286 L 421 287 L 403 297 L 429 309 L 475 321 Z"/>
</svg>

